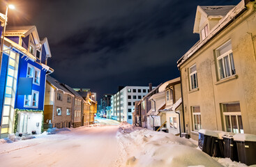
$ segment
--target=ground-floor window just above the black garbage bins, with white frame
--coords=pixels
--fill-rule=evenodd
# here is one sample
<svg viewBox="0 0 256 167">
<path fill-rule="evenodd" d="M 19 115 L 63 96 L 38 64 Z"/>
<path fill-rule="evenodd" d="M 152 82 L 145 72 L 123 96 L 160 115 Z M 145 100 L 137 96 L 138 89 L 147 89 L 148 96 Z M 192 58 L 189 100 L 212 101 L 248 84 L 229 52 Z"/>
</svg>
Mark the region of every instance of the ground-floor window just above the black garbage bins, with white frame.
<svg viewBox="0 0 256 167">
<path fill-rule="evenodd" d="M 225 131 L 243 134 L 243 122 L 239 102 L 222 104 L 222 106 Z"/>
</svg>

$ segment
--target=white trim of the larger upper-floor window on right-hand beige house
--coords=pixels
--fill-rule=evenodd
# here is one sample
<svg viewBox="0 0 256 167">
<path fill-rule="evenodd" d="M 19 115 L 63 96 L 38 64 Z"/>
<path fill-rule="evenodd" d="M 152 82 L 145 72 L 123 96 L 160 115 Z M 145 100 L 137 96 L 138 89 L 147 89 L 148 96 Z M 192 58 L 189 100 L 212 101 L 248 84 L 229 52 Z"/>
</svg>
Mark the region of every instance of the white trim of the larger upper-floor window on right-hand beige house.
<svg viewBox="0 0 256 167">
<path fill-rule="evenodd" d="M 233 53 L 232 49 L 230 49 L 229 51 L 226 51 L 224 54 L 220 55 L 217 57 L 217 51 L 223 47 L 224 45 L 226 45 L 228 42 L 230 42 L 230 45 L 231 45 L 231 40 L 228 40 L 227 42 L 225 42 L 223 45 L 221 45 L 220 47 L 218 47 L 215 51 L 216 51 L 216 63 L 217 63 L 217 67 L 218 67 L 218 79 L 219 80 L 223 80 L 223 79 L 226 79 L 227 77 L 232 77 L 234 76 L 235 74 L 232 74 L 232 67 L 231 67 L 231 62 L 230 62 L 230 54 Z M 224 57 L 227 56 L 228 57 L 228 62 L 229 62 L 229 73 L 230 73 L 230 76 L 226 76 L 226 69 L 225 69 L 225 63 L 224 63 Z M 219 60 L 220 59 L 223 59 L 223 73 L 224 73 L 224 77 L 221 79 L 220 77 L 220 65 L 219 65 Z M 234 61 L 234 57 L 233 57 L 233 61 Z"/>
</svg>

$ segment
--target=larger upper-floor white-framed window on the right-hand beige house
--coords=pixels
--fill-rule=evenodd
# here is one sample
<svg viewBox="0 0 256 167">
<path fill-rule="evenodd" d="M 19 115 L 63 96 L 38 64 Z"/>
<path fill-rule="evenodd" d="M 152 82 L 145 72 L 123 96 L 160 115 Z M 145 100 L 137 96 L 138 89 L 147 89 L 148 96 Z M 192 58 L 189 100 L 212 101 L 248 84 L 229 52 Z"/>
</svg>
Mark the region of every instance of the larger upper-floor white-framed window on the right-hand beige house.
<svg viewBox="0 0 256 167">
<path fill-rule="evenodd" d="M 223 79 L 236 74 L 231 41 L 216 49 L 218 78 Z"/>
</svg>

